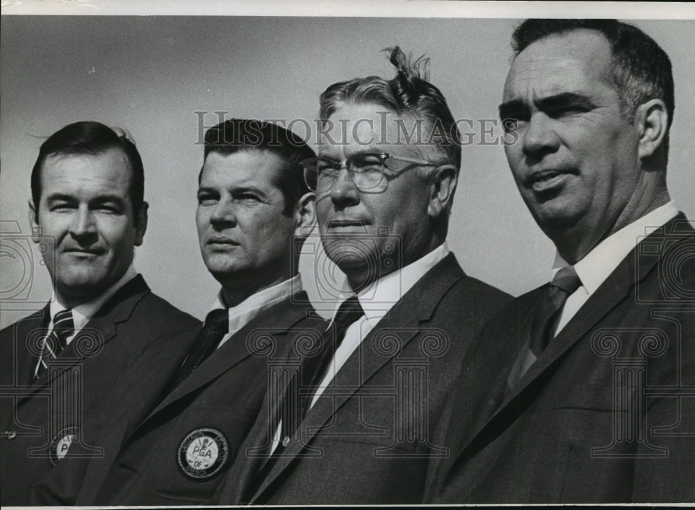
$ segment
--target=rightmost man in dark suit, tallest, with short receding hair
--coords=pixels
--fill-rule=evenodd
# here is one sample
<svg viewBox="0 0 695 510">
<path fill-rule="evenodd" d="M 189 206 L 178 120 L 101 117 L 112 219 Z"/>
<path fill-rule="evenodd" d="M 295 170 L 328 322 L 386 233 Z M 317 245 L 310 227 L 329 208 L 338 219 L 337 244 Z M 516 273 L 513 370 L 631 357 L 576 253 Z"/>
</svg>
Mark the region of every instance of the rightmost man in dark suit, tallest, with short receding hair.
<svg viewBox="0 0 695 510">
<path fill-rule="evenodd" d="M 666 187 L 669 58 L 615 20 L 527 20 L 514 45 L 507 158 L 558 270 L 472 350 L 457 412 L 477 418 L 427 500 L 694 502 L 695 231 Z"/>
</svg>

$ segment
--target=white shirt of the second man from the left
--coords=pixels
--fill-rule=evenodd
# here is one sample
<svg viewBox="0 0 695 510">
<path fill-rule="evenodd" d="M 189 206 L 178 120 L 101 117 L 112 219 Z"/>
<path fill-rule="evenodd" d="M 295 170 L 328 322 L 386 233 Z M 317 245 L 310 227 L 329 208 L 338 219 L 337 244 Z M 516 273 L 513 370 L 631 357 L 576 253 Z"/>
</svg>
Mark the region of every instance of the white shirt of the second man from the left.
<svg viewBox="0 0 695 510">
<path fill-rule="evenodd" d="M 222 337 L 220 343 L 218 344 L 218 349 L 224 345 L 232 335 L 248 324 L 256 315 L 262 311 L 268 310 L 274 304 L 277 304 L 285 299 L 289 299 L 291 296 L 300 293 L 302 291 L 302 277 L 300 274 L 296 274 L 291 279 L 281 281 L 272 287 L 264 288 L 259 292 L 250 295 L 242 302 L 236 306 L 232 306 L 228 309 L 229 315 L 229 329 L 227 334 Z M 215 298 L 213 306 L 211 306 L 210 311 L 216 309 L 226 309 L 227 306 L 224 303 L 224 294 L 222 289 Z"/>
</svg>

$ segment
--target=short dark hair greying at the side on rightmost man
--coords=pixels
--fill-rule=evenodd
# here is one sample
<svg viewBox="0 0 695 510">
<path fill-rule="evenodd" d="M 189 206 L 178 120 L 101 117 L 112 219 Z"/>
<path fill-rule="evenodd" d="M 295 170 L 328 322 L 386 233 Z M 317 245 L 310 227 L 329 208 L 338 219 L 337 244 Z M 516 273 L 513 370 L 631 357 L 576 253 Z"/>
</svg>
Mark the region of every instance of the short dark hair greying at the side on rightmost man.
<svg viewBox="0 0 695 510">
<path fill-rule="evenodd" d="M 635 109 L 650 99 L 661 99 L 669 115 L 664 149 L 668 152 L 668 133 L 673 121 L 673 74 L 666 52 L 636 26 L 617 19 L 526 19 L 512 35 L 517 56 L 532 42 L 551 34 L 586 28 L 601 33 L 612 53 L 612 77 L 623 116 L 635 120 Z"/>
</svg>

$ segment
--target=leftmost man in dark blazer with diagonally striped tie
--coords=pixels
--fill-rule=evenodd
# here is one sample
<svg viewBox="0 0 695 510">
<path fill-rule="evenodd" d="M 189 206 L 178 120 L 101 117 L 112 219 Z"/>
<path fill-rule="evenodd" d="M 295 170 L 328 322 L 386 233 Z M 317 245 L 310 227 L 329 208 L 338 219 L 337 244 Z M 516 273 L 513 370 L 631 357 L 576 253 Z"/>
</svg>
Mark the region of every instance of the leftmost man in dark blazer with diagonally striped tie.
<svg viewBox="0 0 695 510">
<path fill-rule="evenodd" d="M 117 380 L 151 342 L 199 321 L 154 295 L 133 268 L 147 227 L 142 161 L 133 142 L 97 122 L 60 129 L 31 176 L 30 220 L 54 298 L 0 331 L 3 505 L 91 442 Z M 90 425 L 87 425 L 90 424 Z M 83 427 L 84 425 L 84 427 Z"/>
</svg>

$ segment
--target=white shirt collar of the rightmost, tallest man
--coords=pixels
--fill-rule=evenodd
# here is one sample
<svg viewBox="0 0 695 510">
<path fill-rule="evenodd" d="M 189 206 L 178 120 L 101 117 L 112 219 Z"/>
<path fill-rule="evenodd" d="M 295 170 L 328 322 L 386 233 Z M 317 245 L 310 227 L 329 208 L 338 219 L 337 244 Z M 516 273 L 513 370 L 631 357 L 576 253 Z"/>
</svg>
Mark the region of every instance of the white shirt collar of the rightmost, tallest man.
<svg viewBox="0 0 695 510">
<path fill-rule="evenodd" d="M 635 246 L 650 233 L 662 227 L 666 222 L 678 215 L 678 207 L 673 201 L 657 207 L 651 213 L 640 217 L 619 231 L 611 234 L 591 249 L 582 260 L 574 265 L 582 286 L 589 295 L 618 267 L 623 258 L 635 249 Z M 557 252 L 553 264 L 553 274 L 560 268 L 569 265 Z"/>
</svg>

